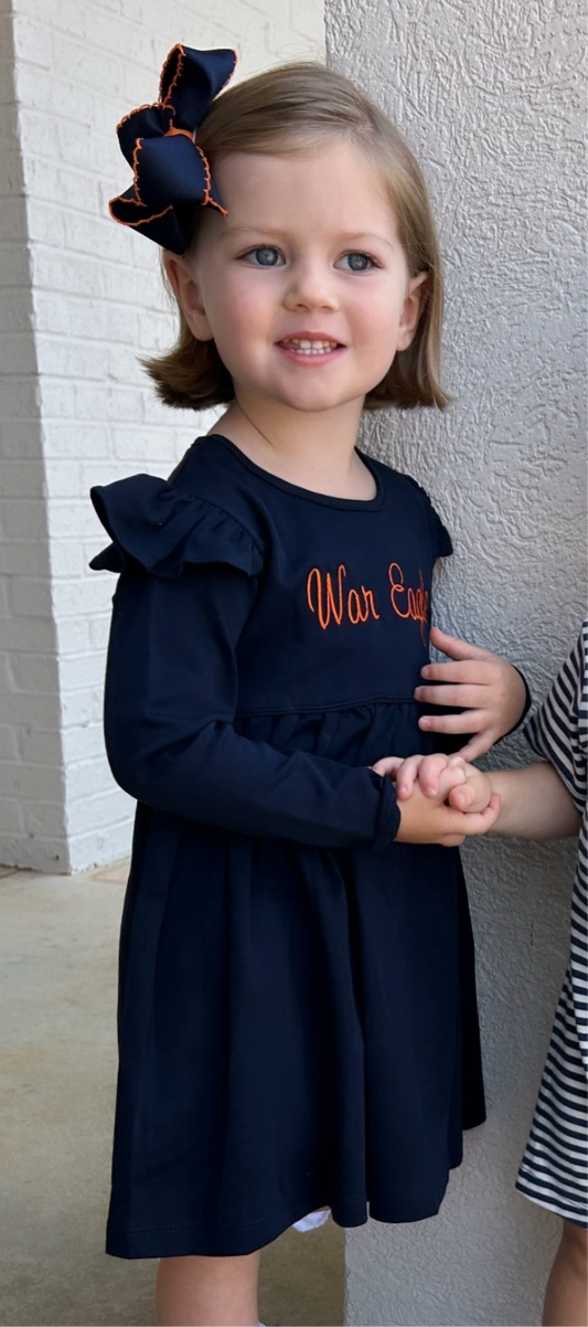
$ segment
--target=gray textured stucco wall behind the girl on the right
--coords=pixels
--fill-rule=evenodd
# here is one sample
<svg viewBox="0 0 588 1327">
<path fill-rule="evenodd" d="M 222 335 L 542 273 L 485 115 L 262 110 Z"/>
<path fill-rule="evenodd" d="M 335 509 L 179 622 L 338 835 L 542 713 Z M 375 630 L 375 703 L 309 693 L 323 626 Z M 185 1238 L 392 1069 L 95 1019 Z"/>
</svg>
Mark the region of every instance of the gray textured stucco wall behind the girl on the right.
<svg viewBox="0 0 588 1327">
<path fill-rule="evenodd" d="M 446 417 L 368 446 L 455 541 L 437 620 L 524 666 L 536 697 L 588 604 L 584 0 L 328 0 L 332 64 L 397 119 L 447 276 Z M 500 759 L 524 752 L 506 743 Z M 496 754 L 498 756 L 498 754 Z M 565 963 L 571 845 L 466 852 L 488 1123 L 442 1214 L 348 1238 L 348 1327 L 536 1327 L 557 1221 L 512 1189 Z"/>
</svg>

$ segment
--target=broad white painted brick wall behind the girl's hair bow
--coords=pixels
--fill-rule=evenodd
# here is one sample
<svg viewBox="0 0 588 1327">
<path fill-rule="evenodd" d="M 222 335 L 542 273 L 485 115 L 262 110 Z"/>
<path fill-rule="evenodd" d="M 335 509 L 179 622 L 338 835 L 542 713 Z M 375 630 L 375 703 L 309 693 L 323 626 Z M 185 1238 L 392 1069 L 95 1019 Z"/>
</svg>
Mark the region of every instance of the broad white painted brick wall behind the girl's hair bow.
<svg viewBox="0 0 588 1327">
<path fill-rule="evenodd" d="M 0 0 L 0 15 L 5 8 L 8 0 Z M 20 212 L 11 204 L 0 232 L 0 285 L 11 292 L 0 322 L 9 374 L 4 454 L 11 460 L 1 479 L 0 514 L 11 565 L 17 532 L 27 525 L 11 610 L 32 629 L 28 649 L 37 649 L 33 624 L 53 622 L 53 656 L 45 641 L 38 674 L 46 686 L 57 645 L 58 683 L 53 677 L 46 707 L 38 703 L 38 723 L 49 729 L 50 711 L 58 731 L 61 719 L 61 756 L 58 746 L 49 739 L 44 744 L 40 735 L 37 744 L 21 739 L 19 744 L 15 727 L 3 722 L 0 752 L 7 755 L 0 759 L 23 764 L 19 796 L 5 800 L 4 815 L 12 827 L 27 805 L 41 823 L 49 783 L 37 778 L 37 756 L 31 752 L 38 754 L 41 766 L 44 751 L 46 780 L 52 770 L 65 780 L 65 803 L 60 805 L 54 788 L 52 800 L 52 825 L 61 811 L 60 864 L 81 869 L 127 851 L 131 816 L 129 799 L 113 784 L 102 746 L 113 579 L 88 571 L 89 557 L 105 541 L 88 490 L 135 470 L 166 474 L 202 425 L 194 414 L 161 407 L 137 364 L 138 354 L 170 342 L 173 322 L 158 251 L 108 218 L 108 199 L 130 182 L 115 123 L 133 106 L 155 98 L 162 61 L 178 40 L 203 48 L 238 46 L 242 76 L 280 60 L 323 54 L 323 0 L 218 0 L 214 16 L 204 0 L 165 5 L 161 0 L 84 0 L 82 5 L 78 0 L 13 0 L 13 35 L 27 231 L 20 190 Z M 31 390 L 35 384 L 36 393 Z M 42 466 L 38 443 L 35 450 L 25 425 L 33 417 L 38 431 L 38 414 Z M 21 490 L 19 512 L 13 486 Z M 13 649 L 11 677 L 19 679 L 20 670 L 32 685 L 35 667 L 24 662 L 16 642 Z M 0 686 L 1 677 L 0 671 Z M 37 705 L 37 695 L 32 699 Z M 27 723 L 27 705 L 19 713 L 24 715 L 19 722 Z M 7 827 L 8 832 L 16 833 Z M 54 865 L 48 856 L 49 828 L 37 832 L 37 844 L 29 840 L 19 860 Z M 0 840 L 0 860 L 7 851 Z M 11 847 L 11 860 L 15 853 Z"/>
</svg>

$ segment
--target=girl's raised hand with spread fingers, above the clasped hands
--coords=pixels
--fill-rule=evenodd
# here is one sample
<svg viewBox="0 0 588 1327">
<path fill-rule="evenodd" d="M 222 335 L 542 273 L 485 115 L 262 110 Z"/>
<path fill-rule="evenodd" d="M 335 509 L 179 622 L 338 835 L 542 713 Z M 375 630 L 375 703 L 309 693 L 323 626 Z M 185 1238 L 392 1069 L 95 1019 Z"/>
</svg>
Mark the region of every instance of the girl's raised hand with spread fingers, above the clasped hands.
<svg viewBox="0 0 588 1327">
<path fill-rule="evenodd" d="M 490 650 L 470 645 L 455 636 L 447 636 L 438 626 L 431 628 L 431 645 L 447 654 L 451 664 L 427 664 L 421 670 L 426 682 L 442 683 L 417 686 L 414 698 L 426 705 L 447 705 L 463 714 L 427 714 L 418 726 L 427 733 L 473 733 L 459 755 L 475 760 L 514 729 L 526 703 L 526 689 L 520 673 Z"/>
</svg>

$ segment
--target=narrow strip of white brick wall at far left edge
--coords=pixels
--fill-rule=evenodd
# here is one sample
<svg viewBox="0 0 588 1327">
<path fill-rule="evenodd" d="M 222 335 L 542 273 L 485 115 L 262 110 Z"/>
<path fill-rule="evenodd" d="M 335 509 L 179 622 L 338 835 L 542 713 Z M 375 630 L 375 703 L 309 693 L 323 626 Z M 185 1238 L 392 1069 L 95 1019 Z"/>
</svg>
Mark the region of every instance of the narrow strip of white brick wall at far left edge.
<svg viewBox="0 0 588 1327">
<path fill-rule="evenodd" d="M 0 860 L 66 869 L 57 634 L 9 0 L 0 0 Z"/>
</svg>

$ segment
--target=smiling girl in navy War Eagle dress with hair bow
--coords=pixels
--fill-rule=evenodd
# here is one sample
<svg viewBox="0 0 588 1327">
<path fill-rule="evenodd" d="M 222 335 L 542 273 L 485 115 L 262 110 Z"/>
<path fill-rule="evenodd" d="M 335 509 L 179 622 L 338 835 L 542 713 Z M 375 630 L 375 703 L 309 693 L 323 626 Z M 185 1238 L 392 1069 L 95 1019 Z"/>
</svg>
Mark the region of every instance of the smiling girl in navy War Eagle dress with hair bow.
<svg viewBox="0 0 588 1327">
<path fill-rule="evenodd" d="M 159 1327 L 255 1327 L 257 1250 L 316 1209 L 438 1210 L 483 1119 L 451 845 L 496 807 L 441 788 L 401 813 L 370 766 L 433 750 L 435 722 L 486 750 L 524 706 L 504 661 L 439 634 L 470 718 L 419 729 L 451 544 L 356 447 L 364 409 L 446 403 L 421 173 L 340 74 L 218 97 L 232 66 L 174 48 L 119 126 L 134 183 L 111 204 L 166 251 L 161 397 L 228 409 L 169 482 L 93 490 L 113 540 L 93 565 L 121 573 L 108 752 L 138 802 L 108 1249 L 162 1259 Z"/>
</svg>

